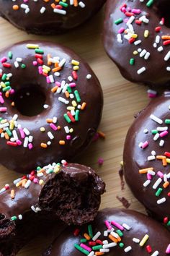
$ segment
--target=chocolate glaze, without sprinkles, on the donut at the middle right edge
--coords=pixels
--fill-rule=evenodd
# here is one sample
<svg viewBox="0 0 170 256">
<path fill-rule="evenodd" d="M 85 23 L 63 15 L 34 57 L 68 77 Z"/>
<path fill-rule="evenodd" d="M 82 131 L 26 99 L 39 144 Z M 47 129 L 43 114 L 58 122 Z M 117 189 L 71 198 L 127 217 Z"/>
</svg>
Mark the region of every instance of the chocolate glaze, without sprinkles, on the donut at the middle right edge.
<svg viewBox="0 0 170 256">
<path fill-rule="evenodd" d="M 143 187 L 143 183 L 146 182 L 146 174 L 139 174 L 139 169 L 153 167 L 153 171 L 161 171 L 163 174 L 169 174 L 169 164 L 163 166 L 161 160 L 148 161 L 148 156 L 151 155 L 151 151 L 155 150 L 156 155 L 164 155 L 170 148 L 170 137 L 159 138 L 157 141 L 153 141 L 151 130 L 157 127 L 169 127 L 169 124 L 165 124 L 164 120 L 169 119 L 169 105 L 170 105 L 170 93 L 166 92 L 164 95 L 151 100 L 151 103 L 138 114 L 135 121 L 128 131 L 128 135 L 125 140 L 125 148 L 123 153 L 123 163 L 125 179 L 130 189 L 132 189 L 135 197 L 146 206 L 153 218 L 158 218 L 163 221 L 165 216 L 170 217 L 170 197 L 167 195 L 169 187 L 164 189 L 163 182 L 157 187 L 157 189 L 163 188 L 161 195 L 156 197 L 157 189 L 153 189 L 153 184 L 159 178 L 158 175 L 153 176 L 151 184 L 148 187 Z M 163 120 L 163 124 L 158 124 L 156 121 L 150 119 L 150 115 L 153 114 Z M 148 129 L 148 133 L 143 132 L 144 129 Z M 160 147 L 160 140 L 164 140 L 164 146 Z M 139 148 L 140 142 L 148 141 L 147 148 Z M 166 197 L 166 202 L 157 204 L 157 200 L 162 197 Z"/>
</svg>

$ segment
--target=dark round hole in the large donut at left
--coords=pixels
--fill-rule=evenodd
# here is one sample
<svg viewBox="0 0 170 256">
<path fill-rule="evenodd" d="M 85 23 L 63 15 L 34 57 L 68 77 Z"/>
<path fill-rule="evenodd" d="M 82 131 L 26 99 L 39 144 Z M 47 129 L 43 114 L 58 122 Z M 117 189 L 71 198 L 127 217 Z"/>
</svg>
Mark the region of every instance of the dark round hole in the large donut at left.
<svg viewBox="0 0 170 256">
<path fill-rule="evenodd" d="M 45 94 L 40 86 L 24 86 L 14 93 L 15 107 L 23 116 L 37 116 L 44 111 Z"/>
</svg>

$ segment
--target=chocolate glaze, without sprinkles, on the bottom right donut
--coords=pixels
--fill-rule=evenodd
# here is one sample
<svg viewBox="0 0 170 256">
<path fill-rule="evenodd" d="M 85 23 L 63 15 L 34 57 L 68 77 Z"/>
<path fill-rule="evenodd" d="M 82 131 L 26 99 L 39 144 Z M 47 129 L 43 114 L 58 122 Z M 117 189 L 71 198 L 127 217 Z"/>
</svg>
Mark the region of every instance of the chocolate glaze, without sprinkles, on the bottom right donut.
<svg viewBox="0 0 170 256">
<path fill-rule="evenodd" d="M 164 229 L 156 221 L 153 221 L 151 218 L 144 216 L 141 213 L 135 212 L 133 210 L 120 210 L 114 208 L 106 208 L 101 210 L 94 222 L 92 222 L 93 234 L 96 234 L 98 231 L 102 233 L 99 236 L 99 239 L 108 240 L 112 242 L 108 237 L 103 236 L 104 231 L 107 230 L 104 221 L 116 221 L 117 223 L 126 223 L 131 227 L 130 231 L 123 231 L 124 235 L 121 237 L 122 243 L 124 243 L 123 249 L 119 246 L 110 248 L 109 252 L 104 253 L 104 255 L 127 255 L 124 252 L 125 247 L 131 246 L 133 249 L 128 252 L 129 255 L 143 255 L 148 256 L 146 251 L 146 245 L 150 244 L 153 252 L 158 250 L 159 255 L 166 255 L 166 247 L 169 244 L 170 234 L 169 231 Z M 80 244 L 80 239 L 83 237 L 84 232 L 88 232 L 87 226 L 84 226 L 84 229 L 81 229 L 81 235 L 78 237 L 73 236 L 73 231 L 75 228 L 71 227 L 63 231 L 61 236 L 53 242 L 53 244 L 44 252 L 43 256 L 81 256 L 83 255 L 77 249 L 74 248 L 74 244 Z M 149 240 L 143 247 L 140 247 L 139 244 L 133 242 L 133 238 L 143 239 L 143 236 L 148 234 Z M 161 239 L 161 241 L 160 241 Z"/>
</svg>

